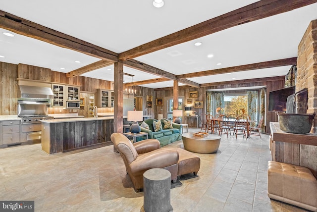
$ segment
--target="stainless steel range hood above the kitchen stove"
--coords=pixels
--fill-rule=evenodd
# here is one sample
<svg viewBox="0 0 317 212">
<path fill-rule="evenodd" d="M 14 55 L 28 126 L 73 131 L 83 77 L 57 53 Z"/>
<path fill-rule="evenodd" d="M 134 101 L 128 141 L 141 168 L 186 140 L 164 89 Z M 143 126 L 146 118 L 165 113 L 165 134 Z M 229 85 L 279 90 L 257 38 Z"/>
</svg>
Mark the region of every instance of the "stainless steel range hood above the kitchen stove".
<svg viewBox="0 0 317 212">
<path fill-rule="evenodd" d="M 52 99 L 53 91 L 49 87 L 20 85 L 21 99 Z"/>
</svg>

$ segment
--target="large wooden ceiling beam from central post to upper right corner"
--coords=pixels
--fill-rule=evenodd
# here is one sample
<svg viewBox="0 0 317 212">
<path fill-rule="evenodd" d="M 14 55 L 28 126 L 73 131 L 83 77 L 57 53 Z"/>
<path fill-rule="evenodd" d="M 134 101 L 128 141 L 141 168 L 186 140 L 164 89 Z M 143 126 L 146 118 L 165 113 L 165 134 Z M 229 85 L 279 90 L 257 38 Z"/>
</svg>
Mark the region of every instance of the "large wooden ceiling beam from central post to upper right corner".
<svg viewBox="0 0 317 212">
<path fill-rule="evenodd" d="M 119 53 L 119 60 L 129 60 L 137 56 L 153 53 L 174 45 L 182 44 L 240 24 L 266 18 L 297 9 L 317 0 L 260 0 L 210 20 L 164 36 L 157 40 Z"/>
</svg>

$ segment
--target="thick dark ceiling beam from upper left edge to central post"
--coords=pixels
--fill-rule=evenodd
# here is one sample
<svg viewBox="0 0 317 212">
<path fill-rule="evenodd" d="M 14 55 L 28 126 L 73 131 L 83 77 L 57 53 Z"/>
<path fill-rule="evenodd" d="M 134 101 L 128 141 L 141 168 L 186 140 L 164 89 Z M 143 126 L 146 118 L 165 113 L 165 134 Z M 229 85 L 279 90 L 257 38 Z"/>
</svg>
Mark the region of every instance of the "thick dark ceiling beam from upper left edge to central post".
<svg viewBox="0 0 317 212">
<path fill-rule="evenodd" d="M 44 41 L 55 46 L 88 54 L 108 61 L 118 61 L 118 54 L 74 38 L 32 21 L 0 10 L 0 27 L 14 33 Z"/>
</svg>

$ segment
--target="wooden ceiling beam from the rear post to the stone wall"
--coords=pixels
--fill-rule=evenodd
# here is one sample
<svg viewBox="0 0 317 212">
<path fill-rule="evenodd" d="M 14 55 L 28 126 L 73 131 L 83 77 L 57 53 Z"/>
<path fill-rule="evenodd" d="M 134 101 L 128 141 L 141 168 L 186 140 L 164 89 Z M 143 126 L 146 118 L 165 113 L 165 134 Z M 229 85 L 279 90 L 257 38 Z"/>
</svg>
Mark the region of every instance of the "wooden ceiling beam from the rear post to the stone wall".
<svg viewBox="0 0 317 212">
<path fill-rule="evenodd" d="M 203 76 L 210 76 L 215 74 L 233 73 L 238 71 L 250 71 L 250 70 L 273 68 L 273 67 L 279 67 L 279 66 L 285 66 L 285 65 L 295 65 L 295 64 L 297 64 L 297 57 L 291 57 L 286 59 L 258 62 L 258 63 L 248 64 L 248 65 L 239 65 L 239 66 L 228 67 L 228 68 L 219 68 L 219 69 L 208 70 L 208 71 L 181 74 L 181 75 L 177 75 L 177 78 L 184 79 L 184 78 L 192 78 L 192 77 L 203 77 Z"/>
</svg>

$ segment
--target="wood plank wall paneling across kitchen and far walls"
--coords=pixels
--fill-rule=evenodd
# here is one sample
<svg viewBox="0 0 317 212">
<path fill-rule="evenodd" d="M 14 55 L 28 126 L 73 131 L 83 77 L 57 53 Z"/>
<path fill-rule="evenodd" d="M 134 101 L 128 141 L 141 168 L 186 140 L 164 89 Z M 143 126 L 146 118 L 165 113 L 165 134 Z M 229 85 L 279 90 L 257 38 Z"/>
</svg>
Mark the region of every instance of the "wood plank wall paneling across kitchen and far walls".
<svg viewBox="0 0 317 212">
<path fill-rule="evenodd" d="M 1 98 L 0 98 L 0 114 L 17 114 L 17 81 L 16 78 L 25 78 L 25 79 L 33 79 L 33 80 L 42 80 L 42 81 L 51 81 L 63 84 L 71 84 L 81 86 L 82 91 L 88 91 L 97 93 L 97 89 L 106 89 L 113 90 L 113 82 L 99 80 L 89 77 L 77 76 L 67 78 L 65 73 L 51 71 L 47 68 L 36 67 L 25 64 L 10 64 L 10 63 L 0 63 L 1 69 Z M 266 86 L 266 97 L 267 97 L 267 106 L 268 106 L 268 97 L 269 92 L 284 88 L 284 81 L 267 81 L 267 82 L 259 82 L 259 83 L 244 83 L 243 85 L 239 85 L 239 87 L 243 86 Z M 212 87 L 202 87 L 202 88 L 191 88 L 188 86 L 179 87 L 178 96 L 184 97 L 184 106 L 192 106 L 192 110 L 201 114 L 206 111 L 206 90 L 208 89 L 219 89 L 219 88 L 230 88 L 232 85 L 218 85 Z M 167 88 L 164 90 L 154 90 L 151 88 L 145 88 L 141 86 L 135 86 L 137 89 L 137 95 L 139 97 L 143 97 L 142 109 L 145 115 L 152 115 L 152 118 L 158 118 L 158 114 L 163 114 L 163 117 L 166 117 L 167 107 L 165 102 L 165 97 L 173 97 L 173 89 Z M 195 101 L 203 101 L 204 108 L 194 108 L 192 105 L 187 105 L 187 99 L 189 99 L 189 91 L 198 91 L 198 98 L 193 99 L 193 104 Z M 152 107 L 147 107 L 147 95 L 152 96 Z M 163 106 L 156 105 L 156 99 L 163 99 Z M 51 109 L 51 108 L 50 108 Z M 139 108 L 140 109 L 140 108 Z M 8 111 L 8 113 L 6 113 Z M 99 108 L 99 112 L 113 112 L 113 108 Z M 53 111 L 53 113 L 58 113 L 59 111 Z M 65 111 L 63 111 L 65 112 Z M 67 112 L 67 111 L 66 111 Z M 266 117 L 266 126 L 269 126 L 270 121 L 277 121 L 277 115 L 275 112 L 267 111 Z M 186 120 L 183 120 L 183 122 Z M 266 133 L 269 134 L 269 127 L 266 127 Z"/>
</svg>

